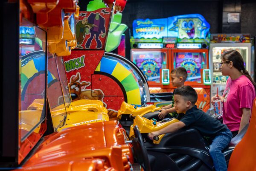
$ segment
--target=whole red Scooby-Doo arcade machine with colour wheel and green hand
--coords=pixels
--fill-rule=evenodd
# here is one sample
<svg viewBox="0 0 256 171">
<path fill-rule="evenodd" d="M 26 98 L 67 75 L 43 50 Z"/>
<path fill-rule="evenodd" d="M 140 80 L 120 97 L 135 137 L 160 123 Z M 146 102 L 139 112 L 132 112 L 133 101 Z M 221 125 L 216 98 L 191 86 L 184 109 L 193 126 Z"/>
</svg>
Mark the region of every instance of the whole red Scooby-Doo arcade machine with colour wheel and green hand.
<svg viewBox="0 0 256 171">
<path fill-rule="evenodd" d="M 119 7 L 113 9 L 104 3 L 100 8 L 93 6 L 93 1 L 83 4 L 87 9 L 80 9 L 76 22 L 76 49 L 64 57 L 73 101 L 100 100 L 113 119 L 123 101 L 136 105 L 149 101 L 148 85 L 140 70 L 121 55 L 111 53 L 127 29 L 121 23 L 124 2 L 116 3 Z M 93 23 L 94 18 L 99 18 L 99 23 Z M 76 81 L 73 78 L 77 78 Z M 71 87 L 74 82 L 86 85 L 75 91 L 75 87 Z"/>
</svg>

